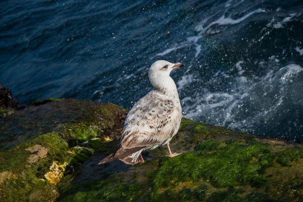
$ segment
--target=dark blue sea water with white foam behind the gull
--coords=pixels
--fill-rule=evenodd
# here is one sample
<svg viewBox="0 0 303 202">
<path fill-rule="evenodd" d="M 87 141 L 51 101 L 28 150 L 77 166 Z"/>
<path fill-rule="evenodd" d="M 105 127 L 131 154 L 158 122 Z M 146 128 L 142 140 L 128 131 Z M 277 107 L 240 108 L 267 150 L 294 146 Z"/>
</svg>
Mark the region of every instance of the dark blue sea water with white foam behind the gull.
<svg viewBox="0 0 303 202">
<path fill-rule="evenodd" d="M 187 118 L 303 136 L 302 1 L 2 1 L 0 82 L 20 103 L 48 97 L 131 108 L 156 60 Z"/>
</svg>

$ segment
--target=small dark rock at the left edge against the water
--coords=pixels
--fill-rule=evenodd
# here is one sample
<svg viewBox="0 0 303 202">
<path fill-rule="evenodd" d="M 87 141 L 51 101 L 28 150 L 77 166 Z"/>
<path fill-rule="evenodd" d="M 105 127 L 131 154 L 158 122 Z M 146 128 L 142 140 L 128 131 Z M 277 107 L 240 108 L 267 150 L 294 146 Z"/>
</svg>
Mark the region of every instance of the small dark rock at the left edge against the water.
<svg viewBox="0 0 303 202">
<path fill-rule="evenodd" d="M 12 91 L 0 83 L 0 109 L 20 110 L 20 104 L 13 98 Z"/>
</svg>

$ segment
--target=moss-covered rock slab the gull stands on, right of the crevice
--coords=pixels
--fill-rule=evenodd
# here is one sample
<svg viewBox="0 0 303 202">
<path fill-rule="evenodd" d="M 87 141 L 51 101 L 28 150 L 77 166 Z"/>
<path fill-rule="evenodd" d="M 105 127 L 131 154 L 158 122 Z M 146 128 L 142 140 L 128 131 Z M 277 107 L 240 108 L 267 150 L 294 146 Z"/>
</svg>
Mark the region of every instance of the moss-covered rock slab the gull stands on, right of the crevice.
<svg viewBox="0 0 303 202">
<path fill-rule="evenodd" d="M 165 157 L 167 148 L 159 147 L 143 154 L 142 165 L 86 162 L 69 186 L 59 185 L 58 201 L 257 202 L 303 198 L 301 145 L 182 119 L 171 148 L 182 155 Z M 138 194 L 132 195 L 129 186 L 138 187 Z"/>
</svg>

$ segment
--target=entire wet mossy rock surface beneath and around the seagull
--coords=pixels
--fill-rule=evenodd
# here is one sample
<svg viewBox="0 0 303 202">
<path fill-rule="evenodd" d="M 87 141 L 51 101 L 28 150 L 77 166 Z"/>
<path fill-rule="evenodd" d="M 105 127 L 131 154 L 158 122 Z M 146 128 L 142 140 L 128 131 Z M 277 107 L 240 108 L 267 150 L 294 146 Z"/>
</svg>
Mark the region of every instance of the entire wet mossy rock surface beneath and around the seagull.
<svg viewBox="0 0 303 202">
<path fill-rule="evenodd" d="M 127 111 L 41 100 L 0 121 L 0 201 L 302 201 L 303 147 L 182 119 L 144 164 L 98 162 L 117 147 Z"/>
</svg>

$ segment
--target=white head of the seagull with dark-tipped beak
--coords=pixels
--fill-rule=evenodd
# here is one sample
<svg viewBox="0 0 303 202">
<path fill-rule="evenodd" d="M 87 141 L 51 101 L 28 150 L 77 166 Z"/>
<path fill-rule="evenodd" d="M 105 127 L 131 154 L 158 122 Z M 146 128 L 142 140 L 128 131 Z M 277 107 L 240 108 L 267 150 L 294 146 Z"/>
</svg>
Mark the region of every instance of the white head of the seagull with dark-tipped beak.
<svg viewBox="0 0 303 202">
<path fill-rule="evenodd" d="M 148 70 L 148 78 L 150 83 L 158 90 L 169 90 L 176 84 L 170 77 L 173 69 L 184 66 L 183 63 L 170 63 L 165 60 L 158 60 L 150 66 Z"/>
</svg>

